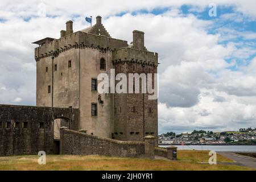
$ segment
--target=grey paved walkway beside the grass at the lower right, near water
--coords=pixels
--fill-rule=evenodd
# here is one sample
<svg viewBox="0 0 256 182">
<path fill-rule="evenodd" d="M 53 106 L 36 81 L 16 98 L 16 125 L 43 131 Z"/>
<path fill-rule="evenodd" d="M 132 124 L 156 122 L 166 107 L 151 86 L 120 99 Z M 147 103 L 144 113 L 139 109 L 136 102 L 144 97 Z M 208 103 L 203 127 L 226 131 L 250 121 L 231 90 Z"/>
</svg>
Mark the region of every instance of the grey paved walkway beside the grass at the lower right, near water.
<svg viewBox="0 0 256 182">
<path fill-rule="evenodd" d="M 236 162 L 235 164 L 238 166 L 256 168 L 256 158 L 235 154 L 233 152 L 217 152 L 217 153 L 228 159 L 234 160 Z M 217 159 L 217 163 L 218 163 L 218 159 Z"/>
</svg>

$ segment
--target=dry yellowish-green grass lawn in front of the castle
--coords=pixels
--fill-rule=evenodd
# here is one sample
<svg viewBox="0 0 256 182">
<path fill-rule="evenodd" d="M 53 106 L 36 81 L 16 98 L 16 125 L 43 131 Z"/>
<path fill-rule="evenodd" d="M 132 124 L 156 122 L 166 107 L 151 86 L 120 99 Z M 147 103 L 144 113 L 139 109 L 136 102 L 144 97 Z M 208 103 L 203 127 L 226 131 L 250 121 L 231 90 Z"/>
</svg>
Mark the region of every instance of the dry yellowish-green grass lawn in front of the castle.
<svg viewBox="0 0 256 182">
<path fill-rule="evenodd" d="M 38 156 L 0 157 L 0 170 L 255 170 L 235 165 L 209 165 L 208 151 L 177 152 L 178 160 L 148 160 L 108 156 L 47 155 L 46 165 L 38 164 Z M 232 162 L 217 156 L 217 162 Z"/>
</svg>

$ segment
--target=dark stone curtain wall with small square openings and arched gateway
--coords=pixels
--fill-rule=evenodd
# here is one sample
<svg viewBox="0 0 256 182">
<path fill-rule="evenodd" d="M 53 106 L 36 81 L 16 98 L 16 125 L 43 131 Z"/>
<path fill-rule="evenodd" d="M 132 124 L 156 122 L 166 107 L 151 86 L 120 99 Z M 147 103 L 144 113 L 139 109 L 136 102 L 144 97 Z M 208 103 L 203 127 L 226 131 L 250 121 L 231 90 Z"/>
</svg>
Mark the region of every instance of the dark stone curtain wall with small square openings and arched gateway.
<svg viewBox="0 0 256 182">
<path fill-rule="evenodd" d="M 0 156 L 37 154 L 40 150 L 54 154 L 55 118 L 72 119 L 69 127 L 76 130 L 79 110 L 0 105 Z"/>
</svg>

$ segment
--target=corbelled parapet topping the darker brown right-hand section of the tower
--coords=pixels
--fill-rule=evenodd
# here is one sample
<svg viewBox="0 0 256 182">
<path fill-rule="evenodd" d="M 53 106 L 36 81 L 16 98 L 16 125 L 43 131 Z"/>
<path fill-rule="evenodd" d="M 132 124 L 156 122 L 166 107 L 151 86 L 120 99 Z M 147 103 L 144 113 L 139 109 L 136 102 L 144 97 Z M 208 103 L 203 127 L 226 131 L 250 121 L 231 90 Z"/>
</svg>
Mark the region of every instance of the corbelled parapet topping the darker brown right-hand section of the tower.
<svg viewBox="0 0 256 182">
<path fill-rule="evenodd" d="M 125 47 L 113 51 L 113 64 L 137 63 L 142 65 L 158 66 L 158 53 Z"/>
</svg>

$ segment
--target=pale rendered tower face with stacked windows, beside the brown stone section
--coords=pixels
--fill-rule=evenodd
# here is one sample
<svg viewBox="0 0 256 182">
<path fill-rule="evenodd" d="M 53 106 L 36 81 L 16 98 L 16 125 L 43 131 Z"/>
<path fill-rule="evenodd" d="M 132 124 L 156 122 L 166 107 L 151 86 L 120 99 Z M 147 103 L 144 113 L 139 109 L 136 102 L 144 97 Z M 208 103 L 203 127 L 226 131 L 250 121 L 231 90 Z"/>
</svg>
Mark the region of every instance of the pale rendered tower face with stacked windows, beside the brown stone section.
<svg viewBox="0 0 256 182">
<path fill-rule="evenodd" d="M 80 49 L 80 130 L 106 138 L 112 138 L 113 133 L 113 94 L 100 94 L 98 90 L 92 90 L 92 78 L 97 79 L 100 73 L 110 77 L 110 69 L 113 68 L 111 58 L 111 51 Z M 100 69 L 101 59 L 106 61 L 106 70 Z M 98 99 L 99 96 L 103 103 Z M 92 116 L 92 104 L 97 104 L 97 116 Z"/>
</svg>

